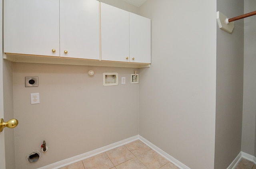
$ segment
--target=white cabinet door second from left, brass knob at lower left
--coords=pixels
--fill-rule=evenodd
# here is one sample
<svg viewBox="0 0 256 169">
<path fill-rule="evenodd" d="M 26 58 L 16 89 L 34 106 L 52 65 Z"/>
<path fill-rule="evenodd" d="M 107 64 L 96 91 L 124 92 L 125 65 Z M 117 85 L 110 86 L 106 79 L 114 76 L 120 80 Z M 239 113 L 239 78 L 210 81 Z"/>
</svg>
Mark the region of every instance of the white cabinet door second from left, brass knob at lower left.
<svg viewBox="0 0 256 169">
<path fill-rule="evenodd" d="M 60 0 L 61 57 L 99 60 L 99 29 L 97 0 Z"/>
</svg>

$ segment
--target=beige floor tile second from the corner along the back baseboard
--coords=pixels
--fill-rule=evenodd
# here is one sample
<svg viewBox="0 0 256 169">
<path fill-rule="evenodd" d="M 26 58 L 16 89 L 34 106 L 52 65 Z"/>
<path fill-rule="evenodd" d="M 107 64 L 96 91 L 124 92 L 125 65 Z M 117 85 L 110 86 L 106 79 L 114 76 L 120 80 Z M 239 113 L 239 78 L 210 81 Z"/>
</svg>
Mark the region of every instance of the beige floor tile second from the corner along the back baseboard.
<svg viewBox="0 0 256 169">
<path fill-rule="evenodd" d="M 124 145 L 106 151 L 106 154 L 115 166 L 135 157 Z"/>
</svg>

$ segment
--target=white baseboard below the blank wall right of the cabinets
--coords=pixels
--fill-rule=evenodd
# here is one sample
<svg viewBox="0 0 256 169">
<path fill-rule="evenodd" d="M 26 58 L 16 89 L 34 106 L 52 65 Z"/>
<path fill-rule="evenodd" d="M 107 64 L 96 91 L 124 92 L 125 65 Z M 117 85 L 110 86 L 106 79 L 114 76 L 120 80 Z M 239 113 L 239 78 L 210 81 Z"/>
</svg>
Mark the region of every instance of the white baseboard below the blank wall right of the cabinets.
<svg viewBox="0 0 256 169">
<path fill-rule="evenodd" d="M 139 135 L 139 140 L 148 145 L 152 150 L 156 151 L 158 154 L 162 155 L 162 157 L 166 158 L 168 161 L 179 167 L 180 169 L 190 169 L 188 166 L 184 165 L 180 161 L 176 160 L 174 157 L 170 156 L 162 149 L 156 147 L 156 145 L 150 143 L 148 140 Z"/>
</svg>

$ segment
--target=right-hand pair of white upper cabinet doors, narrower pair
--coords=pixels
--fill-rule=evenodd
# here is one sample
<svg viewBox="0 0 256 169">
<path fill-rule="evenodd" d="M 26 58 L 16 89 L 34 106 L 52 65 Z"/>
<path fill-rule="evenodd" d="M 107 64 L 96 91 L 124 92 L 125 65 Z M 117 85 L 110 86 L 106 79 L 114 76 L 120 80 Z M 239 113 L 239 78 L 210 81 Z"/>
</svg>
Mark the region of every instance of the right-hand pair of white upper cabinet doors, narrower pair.
<svg viewBox="0 0 256 169">
<path fill-rule="evenodd" d="M 151 63 L 151 20 L 100 3 L 101 59 Z"/>
</svg>

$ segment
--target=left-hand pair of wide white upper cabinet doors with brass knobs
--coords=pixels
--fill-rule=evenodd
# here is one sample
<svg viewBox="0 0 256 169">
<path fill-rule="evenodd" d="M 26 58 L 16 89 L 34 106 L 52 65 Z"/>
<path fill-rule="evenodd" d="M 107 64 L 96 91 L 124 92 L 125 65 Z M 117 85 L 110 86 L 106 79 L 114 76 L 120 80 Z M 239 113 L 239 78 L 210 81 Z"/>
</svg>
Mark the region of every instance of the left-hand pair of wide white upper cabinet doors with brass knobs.
<svg viewBox="0 0 256 169">
<path fill-rule="evenodd" d="M 99 29 L 97 0 L 4 0 L 5 53 L 99 60 Z"/>
</svg>

